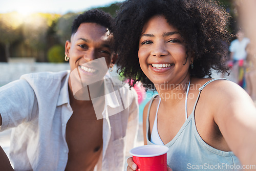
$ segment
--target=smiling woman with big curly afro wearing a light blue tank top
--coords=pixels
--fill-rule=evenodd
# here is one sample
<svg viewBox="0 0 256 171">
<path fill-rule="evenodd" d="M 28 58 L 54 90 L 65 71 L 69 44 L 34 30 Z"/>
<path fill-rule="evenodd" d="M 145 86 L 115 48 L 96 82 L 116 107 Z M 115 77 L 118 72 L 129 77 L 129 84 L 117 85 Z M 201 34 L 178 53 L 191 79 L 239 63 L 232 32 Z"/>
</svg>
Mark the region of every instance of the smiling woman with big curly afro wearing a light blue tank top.
<svg viewBox="0 0 256 171">
<path fill-rule="evenodd" d="M 131 0 L 115 19 L 119 71 L 159 94 L 144 108 L 144 143 L 169 147 L 173 170 L 255 164 L 252 100 L 237 84 L 210 78 L 212 69 L 227 72 L 225 10 L 203 0 Z"/>
</svg>

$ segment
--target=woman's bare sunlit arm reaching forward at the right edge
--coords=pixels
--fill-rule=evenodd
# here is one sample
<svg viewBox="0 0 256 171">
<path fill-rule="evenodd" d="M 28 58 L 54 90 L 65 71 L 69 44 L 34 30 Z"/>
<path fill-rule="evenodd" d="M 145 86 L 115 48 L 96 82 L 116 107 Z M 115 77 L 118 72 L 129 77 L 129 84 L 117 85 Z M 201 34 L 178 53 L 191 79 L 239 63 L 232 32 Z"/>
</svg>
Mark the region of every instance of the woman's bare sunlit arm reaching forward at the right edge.
<svg viewBox="0 0 256 171">
<path fill-rule="evenodd" d="M 209 97 L 215 101 L 211 108 L 214 120 L 231 151 L 242 165 L 255 166 L 256 108 L 253 101 L 231 81 L 218 81 Z"/>
</svg>

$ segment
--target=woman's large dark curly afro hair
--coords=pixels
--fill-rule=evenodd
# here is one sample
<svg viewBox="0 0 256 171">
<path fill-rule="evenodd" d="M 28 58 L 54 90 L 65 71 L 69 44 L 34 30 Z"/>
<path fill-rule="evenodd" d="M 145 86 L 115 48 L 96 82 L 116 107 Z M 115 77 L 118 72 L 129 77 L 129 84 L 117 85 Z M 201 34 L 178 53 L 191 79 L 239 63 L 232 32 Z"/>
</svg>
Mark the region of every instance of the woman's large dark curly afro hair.
<svg viewBox="0 0 256 171">
<path fill-rule="evenodd" d="M 138 47 L 144 24 L 157 14 L 164 15 L 185 39 L 187 54 L 194 56 L 191 76 L 210 77 L 212 69 L 228 71 L 225 61 L 231 38 L 229 14 L 217 1 L 127 0 L 117 12 L 114 39 L 118 71 L 130 80 L 130 86 L 141 81 L 144 87 L 152 88 L 153 83 L 140 68 Z"/>
</svg>

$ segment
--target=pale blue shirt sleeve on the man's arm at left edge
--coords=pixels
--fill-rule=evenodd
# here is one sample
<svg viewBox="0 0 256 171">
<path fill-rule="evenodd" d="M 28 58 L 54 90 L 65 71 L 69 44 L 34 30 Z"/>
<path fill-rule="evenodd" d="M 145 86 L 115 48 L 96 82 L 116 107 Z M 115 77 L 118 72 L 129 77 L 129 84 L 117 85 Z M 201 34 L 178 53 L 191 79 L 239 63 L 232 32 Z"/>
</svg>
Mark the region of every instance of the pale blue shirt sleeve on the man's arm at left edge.
<svg viewBox="0 0 256 171">
<path fill-rule="evenodd" d="M 0 88 L 2 130 L 29 121 L 36 110 L 37 100 L 26 80 L 16 80 Z"/>
</svg>

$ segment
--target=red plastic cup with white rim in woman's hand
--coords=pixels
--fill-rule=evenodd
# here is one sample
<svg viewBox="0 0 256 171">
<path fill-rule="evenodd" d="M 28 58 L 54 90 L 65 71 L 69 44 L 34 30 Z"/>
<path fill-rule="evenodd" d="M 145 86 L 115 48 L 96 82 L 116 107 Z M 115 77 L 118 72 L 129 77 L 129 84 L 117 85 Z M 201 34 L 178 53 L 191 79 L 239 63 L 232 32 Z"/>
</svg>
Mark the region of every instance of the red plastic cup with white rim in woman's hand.
<svg viewBox="0 0 256 171">
<path fill-rule="evenodd" d="M 167 171 L 167 152 L 164 145 L 143 145 L 131 149 L 130 154 L 140 171 Z"/>
</svg>

